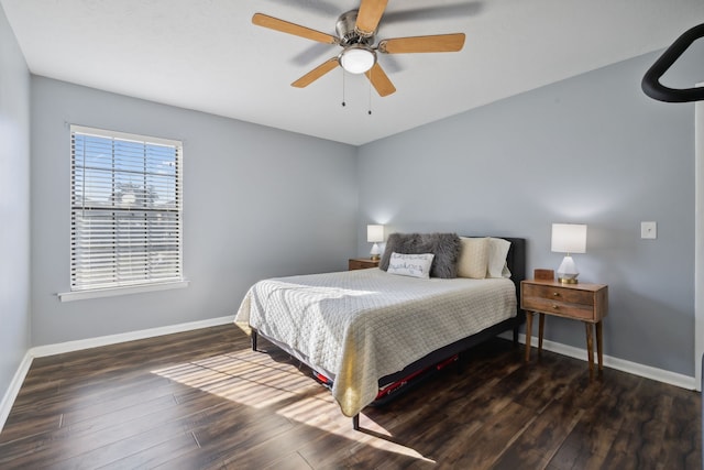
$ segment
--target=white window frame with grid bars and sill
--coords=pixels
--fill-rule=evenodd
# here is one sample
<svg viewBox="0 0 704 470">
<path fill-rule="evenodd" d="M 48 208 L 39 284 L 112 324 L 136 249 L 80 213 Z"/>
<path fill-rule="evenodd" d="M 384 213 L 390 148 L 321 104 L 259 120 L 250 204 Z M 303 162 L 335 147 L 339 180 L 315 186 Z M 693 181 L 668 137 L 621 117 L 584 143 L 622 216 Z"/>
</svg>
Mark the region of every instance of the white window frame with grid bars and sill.
<svg viewBox="0 0 704 470">
<path fill-rule="evenodd" d="M 74 149 L 74 144 L 76 141 L 76 135 L 85 135 L 85 136 L 90 136 L 90 138 L 96 138 L 96 139 L 106 139 L 108 141 L 110 141 L 111 144 L 111 150 L 109 152 L 111 152 L 110 157 L 112 159 L 112 164 L 111 167 L 109 170 L 101 170 L 101 172 L 103 174 L 110 175 L 112 184 L 110 184 L 110 192 L 108 193 L 107 196 L 107 200 L 101 201 L 101 203 L 96 203 L 96 204 L 91 204 L 91 205 L 86 205 L 85 203 L 81 203 L 80 205 L 75 204 L 76 203 L 76 194 L 77 193 L 77 187 L 80 187 L 81 192 L 86 192 L 88 186 L 84 183 L 84 184 L 77 184 L 76 178 L 78 177 L 78 171 L 76 170 L 77 166 L 77 161 L 78 161 L 78 156 L 75 152 Z M 116 168 L 116 164 L 114 161 L 116 159 L 118 159 L 119 156 L 121 156 L 119 154 L 119 151 L 116 150 L 116 142 L 118 142 L 118 145 L 120 142 L 124 143 L 124 142 L 132 142 L 135 143 L 138 145 L 142 145 L 143 150 L 144 150 L 144 156 L 143 157 L 130 157 L 129 163 L 132 162 L 140 162 L 143 161 L 144 165 L 143 168 L 139 172 L 133 172 L 130 171 L 128 172 L 124 168 L 120 168 L 117 170 Z M 106 142 L 107 143 L 107 142 Z M 128 144 L 129 145 L 129 144 Z M 150 147 L 150 145 L 152 145 L 152 147 Z M 163 209 L 154 209 L 154 207 L 148 207 L 146 205 L 146 203 L 143 203 L 142 205 L 138 205 L 139 207 L 130 207 L 128 206 L 127 208 L 123 207 L 122 205 L 119 205 L 116 203 L 116 192 L 117 192 L 117 187 L 118 185 L 114 184 L 116 181 L 118 181 L 118 178 L 120 176 L 124 177 L 125 174 L 130 173 L 132 175 L 136 175 L 138 177 L 141 177 L 144 183 L 143 183 L 143 187 L 142 187 L 142 194 L 144 195 L 143 197 L 147 197 L 147 190 L 148 192 L 153 192 L 154 189 L 147 189 L 148 186 L 146 184 L 146 179 L 150 176 L 154 176 L 153 173 L 150 173 L 150 170 L 147 170 L 148 167 L 148 163 L 151 163 L 150 161 L 150 156 L 147 156 L 148 154 L 148 150 L 154 150 L 157 146 L 166 146 L 166 147 L 173 147 L 174 152 L 175 152 L 175 156 L 174 156 L 174 174 L 173 175 L 168 175 L 167 181 L 168 183 L 173 183 L 173 195 L 174 195 L 174 203 L 173 206 L 174 207 L 166 207 Z M 69 195 L 69 204 L 70 204 L 70 249 L 69 249 L 69 276 L 70 276 L 70 289 L 69 292 L 66 293 L 59 293 L 58 298 L 62 302 L 68 302 L 68 300 L 76 300 L 76 299 L 82 299 L 82 298 L 96 298 L 96 297 L 106 297 L 106 296 L 114 296 L 114 295 L 124 295 L 124 294 L 133 294 L 133 293 L 141 293 L 141 292 L 152 292 L 152 291 L 164 291 L 164 289 L 172 289 L 172 288 L 183 288 L 186 287 L 188 285 L 188 281 L 185 278 L 184 276 L 184 234 L 183 234 L 183 225 L 184 225 L 184 217 L 183 217 L 183 156 L 184 156 L 184 146 L 183 146 L 183 142 L 178 141 L 178 140 L 173 140 L 173 139 L 164 139 L 164 138 L 155 138 L 155 136 L 150 136 L 150 135 L 143 135 L 143 134 L 133 134 L 133 133 L 127 133 L 127 132 L 119 132 L 119 131 L 111 131 L 111 130 L 107 130 L 107 129 L 98 129 L 98 128 L 89 128 L 89 127 L 85 127 L 85 125 L 77 125 L 77 124 L 70 124 L 70 132 L 69 132 L 69 155 L 70 155 L 70 195 Z M 81 155 L 82 159 L 86 157 L 85 154 Z M 89 166 L 85 165 L 85 160 L 84 160 L 84 166 L 80 168 L 81 174 L 84 174 L 85 177 L 85 172 L 87 172 L 89 168 Z M 158 175 L 161 176 L 161 175 Z M 130 179 L 131 181 L 131 179 Z M 95 181 L 91 182 L 92 184 L 97 184 Z M 170 189 L 170 186 L 168 187 Z M 105 189 L 105 188 L 103 188 Z M 85 194 L 84 194 L 85 196 Z M 132 201 L 134 200 L 134 197 L 131 199 Z M 129 204 L 129 203 L 128 203 Z M 105 207 L 100 208 L 99 206 L 103 205 Z M 76 233 L 80 232 L 80 229 L 77 229 L 77 225 L 79 225 L 79 222 L 77 221 L 78 218 L 80 217 L 80 215 L 78 215 L 77 212 L 79 210 L 90 210 L 90 211 L 95 211 L 94 212 L 94 217 L 98 217 L 98 212 L 107 212 L 107 219 L 109 220 L 109 225 L 110 227 L 113 227 L 112 231 L 111 231 L 111 236 L 110 236 L 110 240 L 112 240 L 112 243 L 107 243 L 108 245 L 111 245 L 110 249 L 110 253 L 112 255 L 112 263 L 114 263 L 116 265 L 120 264 L 118 261 L 118 258 L 121 254 L 120 248 L 119 248 L 119 243 L 118 240 L 120 239 L 120 236 L 118 234 L 118 227 L 120 223 L 124 223 L 124 222 L 120 222 L 121 219 L 124 219 L 125 217 L 130 217 L 130 216 L 134 216 L 138 215 L 138 218 L 135 219 L 136 221 L 143 221 L 144 222 L 144 227 L 142 228 L 142 232 L 144 233 L 148 233 L 150 229 L 147 229 L 147 226 L 150 226 L 150 223 L 154 223 L 154 221 L 160 222 L 161 219 L 157 216 L 157 219 L 153 219 L 151 218 L 148 215 L 167 215 L 168 218 L 168 222 L 167 222 L 167 227 L 170 228 L 176 228 L 177 233 L 175 236 L 169 234 L 167 237 L 168 241 L 172 240 L 176 240 L 176 244 L 177 244 L 177 249 L 176 250 L 170 250 L 167 255 L 172 256 L 172 260 L 174 261 L 169 261 L 168 264 L 168 269 L 166 270 L 166 274 L 164 275 L 155 275 L 155 277 L 151 277 L 151 274 L 144 274 L 145 277 L 144 278 L 134 278 L 134 280 L 121 280 L 120 278 L 120 274 L 113 274 L 113 280 L 110 281 L 96 281 L 95 285 L 91 286 L 91 282 L 90 280 L 88 280 L 87 282 L 80 282 L 77 281 L 80 277 L 76 274 L 77 271 L 79 270 L 79 267 L 75 267 L 75 260 L 77 259 L 76 253 L 78 250 L 77 245 L 75 244 L 75 237 Z M 105 216 L 103 216 L 105 217 Z M 90 218 L 89 218 L 90 219 Z M 172 220 L 173 219 L 173 220 Z M 81 220 L 86 220 L 86 219 L 81 219 Z M 129 220 L 129 219 L 128 219 Z M 130 222 L 131 223 L 131 222 Z M 139 230 L 138 230 L 139 232 Z M 85 232 L 84 232 L 85 233 Z M 152 238 L 153 237 L 153 238 Z M 144 256 L 144 272 L 148 272 L 151 269 L 151 259 L 158 254 L 156 251 L 156 248 L 154 244 L 152 244 L 152 241 L 157 239 L 157 234 L 150 234 L 150 237 L 146 238 L 146 240 L 144 242 L 144 249 L 143 251 L 140 252 L 140 254 L 143 254 Z M 142 237 L 141 237 L 142 238 Z M 127 238 L 127 240 L 132 240 L 132 238 Z M 163 239 L 161 241 L 164 241 Z M 90 242 L 88 242 L 88 244 L 90 245 Z M 88 247 L 90 248 L 90 247 Z M 130 249 L 129 249 L 130 250 Z M 163 252 L 162 252 L 163 253 Z M 130 260 L 130 262 L 132 262 L 132 260 Z M 89 262 L 88 262 L 89 263 Z M 130 264 L 130 269 L 134 267 L 134 266 L 141 266 L 141 262 L 136 262 L 133 264 Z M 90 270 L 90 267 L 86 267 L 88 271 Z M 172 275 L 173 274 L 173 275 Z M 165 276 L 165 277 L 164 277 Z"/>
</svg>

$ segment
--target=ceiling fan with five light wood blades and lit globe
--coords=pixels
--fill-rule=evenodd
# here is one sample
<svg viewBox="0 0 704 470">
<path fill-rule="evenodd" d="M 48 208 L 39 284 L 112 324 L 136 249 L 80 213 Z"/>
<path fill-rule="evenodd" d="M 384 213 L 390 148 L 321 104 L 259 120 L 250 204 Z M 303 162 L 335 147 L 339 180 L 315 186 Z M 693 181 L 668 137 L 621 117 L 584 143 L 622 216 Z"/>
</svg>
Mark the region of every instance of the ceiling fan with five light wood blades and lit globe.
<svg viewBox="0 0 704 470">
<path fill-rule="evenodd" d="M 438 34 L 430 36 L 396 37 L 381 40 L 375 44 L 378 23 L 388 0 L 361 0 L 359 10 L 342 13 L 336 23 L 337 36 L 311 30 L 310 28 L 255 13 L 252 23 L 283 33 L 305 37 L 324 44 L 337 44 L 342 52 L 323 62 L 293 84 L 304 88 L 333 68 L 341 66 L 352 74 L 365 74 L 380 96 L 396 91 L 394 84 L 378 64 L 377 53 L 407 54 L 424 52 L 458 52 L 464 46 L 464 33 Z"/>
</svg>

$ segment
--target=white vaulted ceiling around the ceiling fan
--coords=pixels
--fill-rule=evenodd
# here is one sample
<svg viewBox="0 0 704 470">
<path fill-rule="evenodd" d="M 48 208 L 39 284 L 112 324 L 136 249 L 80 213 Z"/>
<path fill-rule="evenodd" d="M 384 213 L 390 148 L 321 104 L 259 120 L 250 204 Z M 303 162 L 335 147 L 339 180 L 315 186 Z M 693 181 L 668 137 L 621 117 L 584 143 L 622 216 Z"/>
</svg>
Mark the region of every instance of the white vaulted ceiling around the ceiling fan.
<svg viewBox="0 0 704 470">
<path fill-rule="evenodd" d="M 344 75 L 342 107 L 341 68 L 290 87 L 339 46 L 251 18 L 336 34 L 359 0 L 0 3 L 33 74 L 354 145 L 661 50 L 704 23 L 703 0 L 389 0 L 377 39 L 463 32 L 464 48 L 380 55 L 397 91 L 380 98 Z"/>
</svg>

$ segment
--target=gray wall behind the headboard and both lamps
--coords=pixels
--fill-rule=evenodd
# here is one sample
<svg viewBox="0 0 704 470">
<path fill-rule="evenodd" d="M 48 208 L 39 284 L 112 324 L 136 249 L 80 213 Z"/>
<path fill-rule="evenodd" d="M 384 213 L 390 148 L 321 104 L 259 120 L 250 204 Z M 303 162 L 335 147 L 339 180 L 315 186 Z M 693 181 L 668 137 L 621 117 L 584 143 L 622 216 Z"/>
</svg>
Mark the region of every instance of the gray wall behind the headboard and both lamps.
<svg viewBox="0 0 704 470">
<path fill-rule="evenodd" d="M 642 94 L 656 57 L 362 146 L 359 253 L 370 222 L 525 237 L 531 273 L 560 264 L 552 222 L 587 223 L 587 252 L 574 259 L 581 280 L 609 285 L 605 353 L 694 375 L 694 107 Z M 704 78 L 698 57 L 688 61 L 698 77 L 678 70 L 689 86 Z M 658 222 L 657 240 L 640 239 L 644 220 Z M 570 320 L 550 318 L 546 338 L 585 347 Z"/>
</svg>

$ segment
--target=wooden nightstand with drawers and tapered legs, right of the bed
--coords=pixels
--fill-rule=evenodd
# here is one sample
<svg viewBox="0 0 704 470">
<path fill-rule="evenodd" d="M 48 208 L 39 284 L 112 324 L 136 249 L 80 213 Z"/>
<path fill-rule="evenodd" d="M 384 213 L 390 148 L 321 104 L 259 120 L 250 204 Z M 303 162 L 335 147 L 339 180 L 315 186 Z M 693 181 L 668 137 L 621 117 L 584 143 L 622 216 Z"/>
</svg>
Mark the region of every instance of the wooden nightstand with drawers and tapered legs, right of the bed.
<svg viewBox="0 0 704 470">
<path fill-rule="evenodd" d="M 590 376 L 594 372 L 594 340 L 592 325 L 596 327 L 596 351 L 598 370 L 604 369 L 602 352 L 602 318 L 608 311 L 608 286 L 604 284 L 561 284 L 556 281 L 522 281 L 520 283 L 520 308 L 526 310 L 526 362 L 530 361 L 530 337 L 532 316 L 540 314 L 538 351 L 542 350 L 544 316 L 573 318 L 584 323 L 586 329 L 586 354 Z"/>
</svg>

